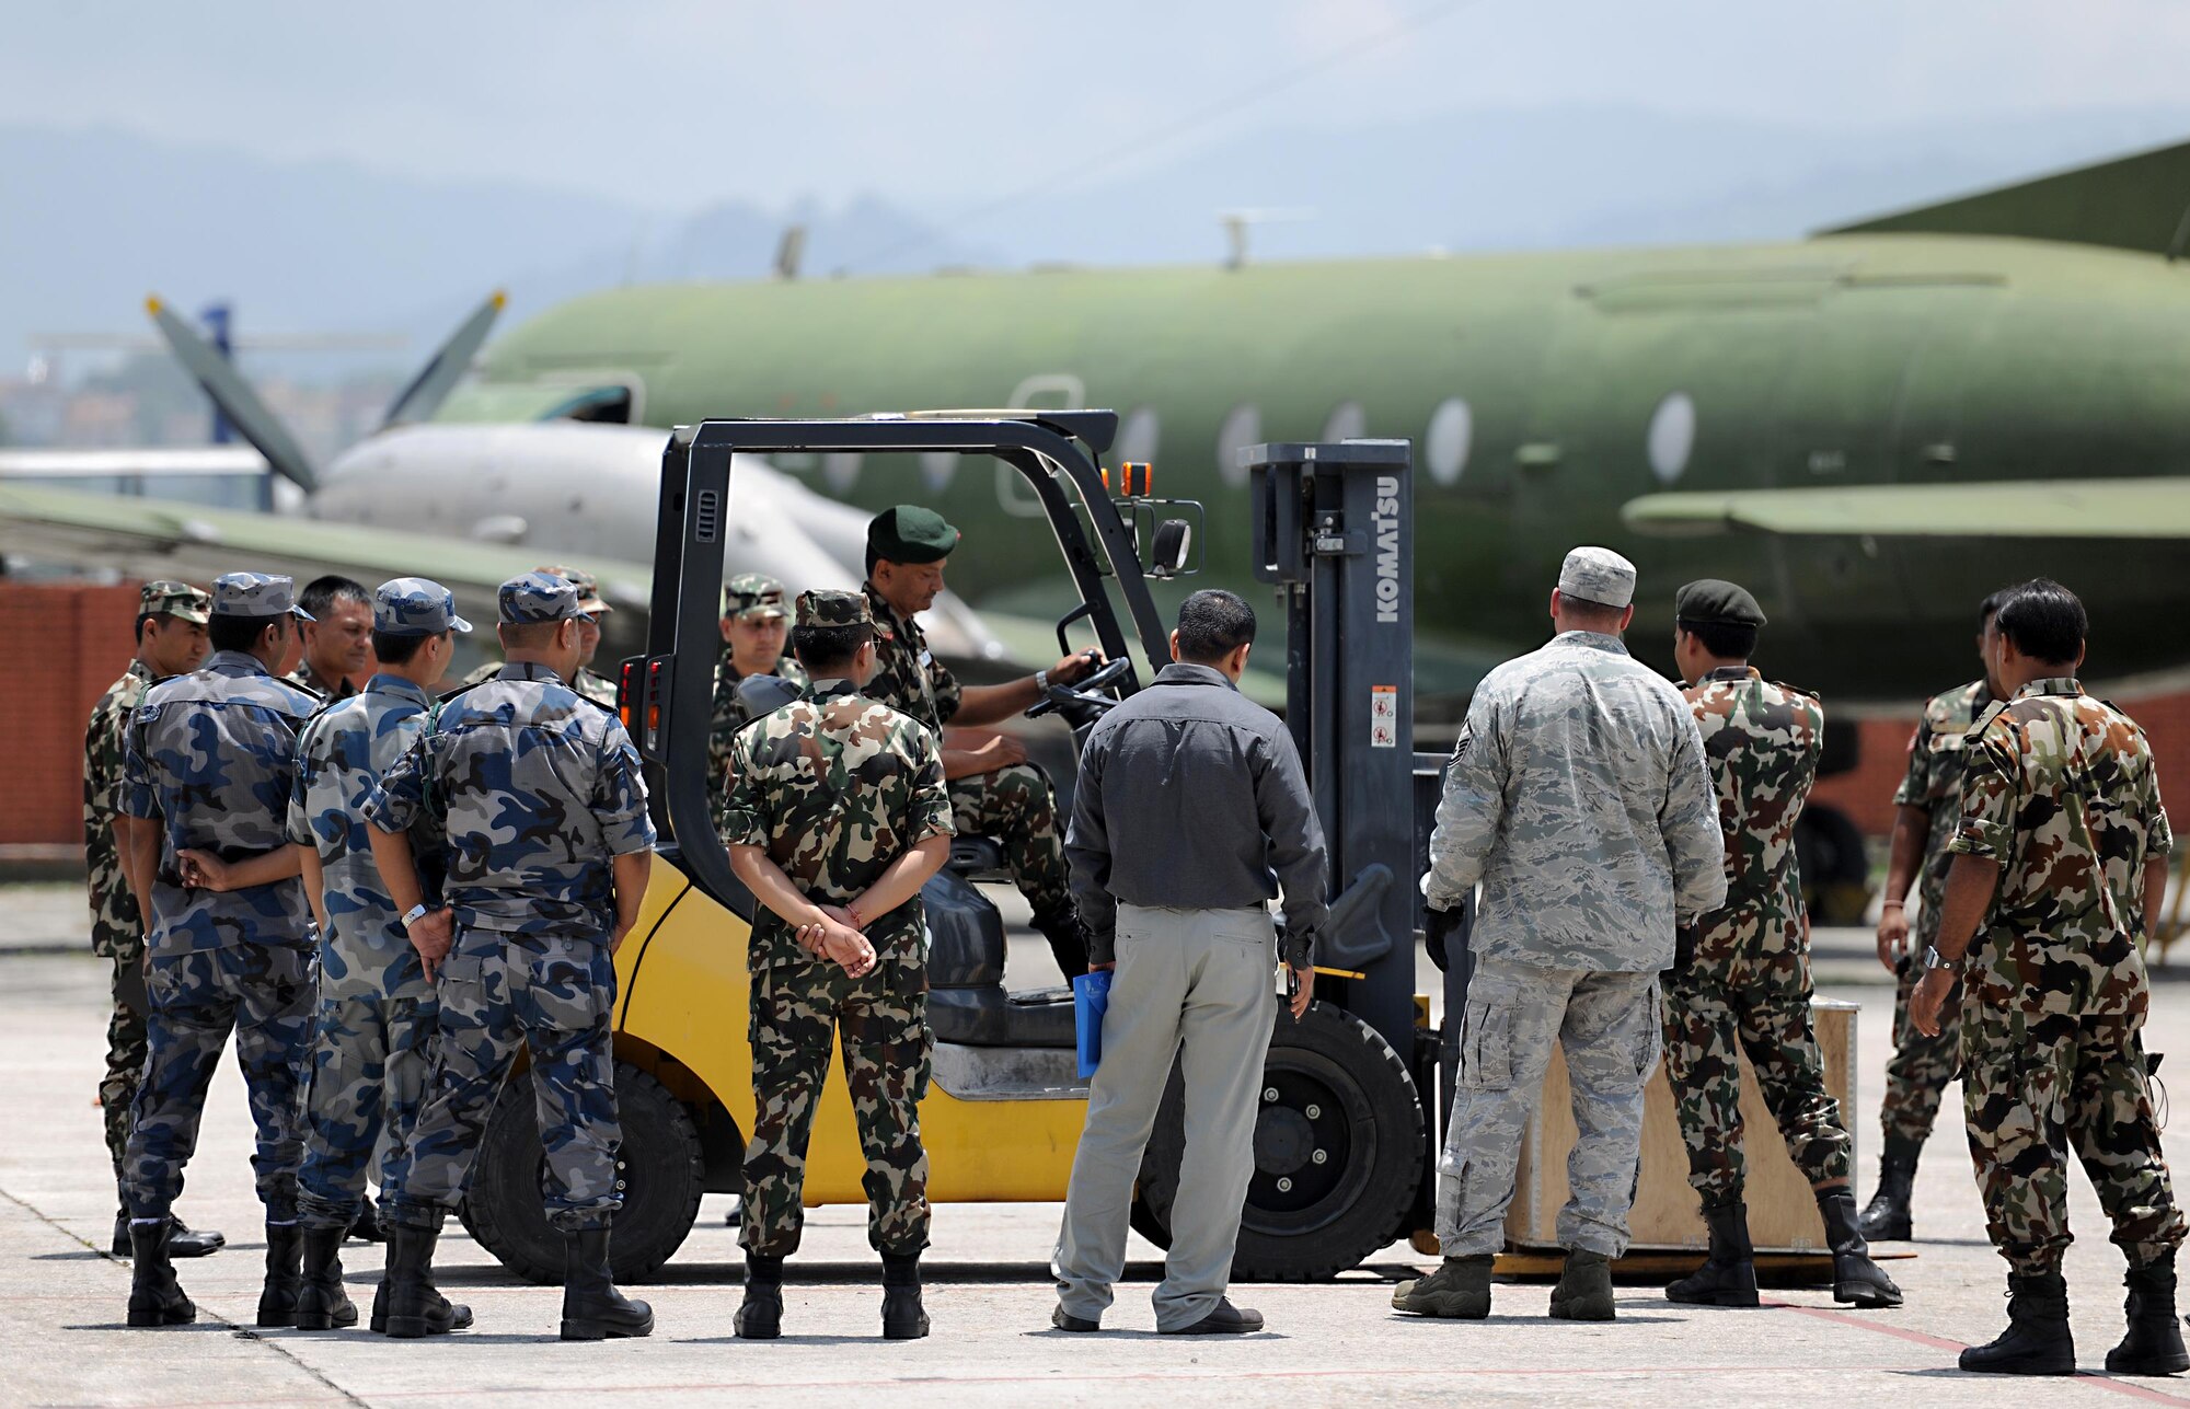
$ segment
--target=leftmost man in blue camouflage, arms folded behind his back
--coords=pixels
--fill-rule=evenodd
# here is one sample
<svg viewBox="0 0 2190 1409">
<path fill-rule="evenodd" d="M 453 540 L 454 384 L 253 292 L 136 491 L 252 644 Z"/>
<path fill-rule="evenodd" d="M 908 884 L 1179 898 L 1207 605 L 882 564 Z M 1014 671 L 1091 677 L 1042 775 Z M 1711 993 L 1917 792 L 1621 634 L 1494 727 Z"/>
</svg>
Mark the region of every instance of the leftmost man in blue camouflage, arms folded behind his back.
<svg viewBox="0 0 2190 1409">
<path fill-rule="evenodd" d="M 289 578 L 219 578 L 204 669 L 153 685 L 129 722 L 123 847 L 151 954 L 149 1055 L 123 1157 L 131 1326 L 197 1317 L 169 1262 L 169 1210 L 230 1033 L 258 1127 L 252 1171 L 267 1210 L 258 1324 L 287 1326 L 296 1315 L 313 971 L 311 910 L 283 810 L 298 731 L 320 704 L 278 678 L 300 650 L 298 610 Z"/>
</svg>

